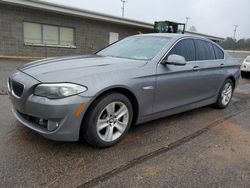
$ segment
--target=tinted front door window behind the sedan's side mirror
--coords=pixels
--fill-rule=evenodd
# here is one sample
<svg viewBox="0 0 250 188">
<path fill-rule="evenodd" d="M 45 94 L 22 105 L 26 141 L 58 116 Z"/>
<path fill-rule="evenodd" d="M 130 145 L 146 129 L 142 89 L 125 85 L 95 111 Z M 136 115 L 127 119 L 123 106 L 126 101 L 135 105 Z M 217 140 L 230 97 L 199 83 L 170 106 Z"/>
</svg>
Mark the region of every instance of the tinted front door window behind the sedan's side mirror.
<svg viewBox="0 0 250 188">
<path fill-rule="evenodd" d="M 195 61 L 195 46 L 193 40 L 181 40 L 170 50 L 168 56 L 172 54 L 183 56 L 186 61 Z"/>
</svg>

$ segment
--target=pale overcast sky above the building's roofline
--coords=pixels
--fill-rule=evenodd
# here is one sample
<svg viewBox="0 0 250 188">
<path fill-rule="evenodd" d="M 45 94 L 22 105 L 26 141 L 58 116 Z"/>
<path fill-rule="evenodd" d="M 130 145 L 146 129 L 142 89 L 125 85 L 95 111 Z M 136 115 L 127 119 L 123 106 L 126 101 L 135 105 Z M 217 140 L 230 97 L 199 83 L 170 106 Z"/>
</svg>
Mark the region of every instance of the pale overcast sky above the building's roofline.
<svg viewBox="0 0 250 188">
<path fill-rule="evenodd" d="M 121 16 L 120 0 L 44 0 L 91 11 Z M 250 0 L 128 0 L 125 17 L 153 23 L 173 20 L 194 25 L 198 32 L 236 38 L 250 38 Z"/>
</svg>

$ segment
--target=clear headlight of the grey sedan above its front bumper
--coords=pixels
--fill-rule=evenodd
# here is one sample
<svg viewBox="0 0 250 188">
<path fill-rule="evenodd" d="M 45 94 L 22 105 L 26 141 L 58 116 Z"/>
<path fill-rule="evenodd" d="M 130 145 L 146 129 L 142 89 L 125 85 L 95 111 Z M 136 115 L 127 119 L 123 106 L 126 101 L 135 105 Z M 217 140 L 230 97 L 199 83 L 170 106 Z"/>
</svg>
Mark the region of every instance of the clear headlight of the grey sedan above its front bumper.
<svg viewBox="0 0 250 188">
<path fill-rule="evenodd" d="M 49 99 L 60 99 L 77 95 L 84 91 L 87 91 L 87 87 L 71 83 L 39 84 L 35 88 L 34 95 Z"/>
</svg>

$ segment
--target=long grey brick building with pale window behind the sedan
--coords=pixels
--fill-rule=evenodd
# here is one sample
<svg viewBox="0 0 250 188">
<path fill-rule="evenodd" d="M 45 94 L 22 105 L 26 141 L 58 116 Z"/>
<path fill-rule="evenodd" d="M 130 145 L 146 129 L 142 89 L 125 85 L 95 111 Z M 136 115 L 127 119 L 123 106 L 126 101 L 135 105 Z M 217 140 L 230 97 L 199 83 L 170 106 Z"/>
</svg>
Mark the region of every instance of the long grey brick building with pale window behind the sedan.
<svg viewBox="0 0 250 188">
<path fill-rule="evenodd" d="M 0 0 L 0 57 L 93 53 L 126 36 L 153 32 L 153 28 L 150 23 L 37 0 Z"/>
</svg>

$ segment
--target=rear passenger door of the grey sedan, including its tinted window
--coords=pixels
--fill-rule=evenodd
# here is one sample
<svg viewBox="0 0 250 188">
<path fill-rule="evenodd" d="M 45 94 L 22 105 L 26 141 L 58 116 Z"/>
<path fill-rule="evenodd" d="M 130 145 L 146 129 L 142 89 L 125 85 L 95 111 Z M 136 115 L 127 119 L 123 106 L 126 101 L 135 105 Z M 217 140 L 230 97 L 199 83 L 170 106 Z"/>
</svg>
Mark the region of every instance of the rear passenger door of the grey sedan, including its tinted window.
<svg viewBox="0 0 250 188">
<path fill-rule="evenodd" d="M 194 42 L 196 60 L 200 68 L 199 78 L 202 80 L 199 93 L 202 99 L 209 99 L 218 94 L 224 82 L 224 54 L 223 51 L 217 51 L 215 48 L 218 47 L 207 40 L 194 39 Z"/>
</svg>

